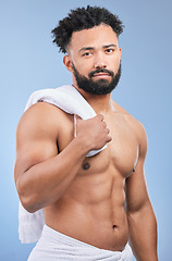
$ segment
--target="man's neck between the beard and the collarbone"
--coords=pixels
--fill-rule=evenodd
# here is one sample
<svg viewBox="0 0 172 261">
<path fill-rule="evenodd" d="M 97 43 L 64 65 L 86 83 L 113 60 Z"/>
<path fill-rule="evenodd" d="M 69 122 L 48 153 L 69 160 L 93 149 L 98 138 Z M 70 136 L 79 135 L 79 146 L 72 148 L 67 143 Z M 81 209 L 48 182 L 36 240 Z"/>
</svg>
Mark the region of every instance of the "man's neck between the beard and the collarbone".
<svg viewBox="0 0 172 261">
<path fill-rule="evenodd" d="M 73 86 L 78 90 L 78 92 L 84 97 L 84 99 L 89 103 L 97 114 L 106 114 L 108 111 L 114 110 L 111 94 L 102 96 L 91 95 L 83 89 L 79 89 L 76 85 Z"/>
</svg>

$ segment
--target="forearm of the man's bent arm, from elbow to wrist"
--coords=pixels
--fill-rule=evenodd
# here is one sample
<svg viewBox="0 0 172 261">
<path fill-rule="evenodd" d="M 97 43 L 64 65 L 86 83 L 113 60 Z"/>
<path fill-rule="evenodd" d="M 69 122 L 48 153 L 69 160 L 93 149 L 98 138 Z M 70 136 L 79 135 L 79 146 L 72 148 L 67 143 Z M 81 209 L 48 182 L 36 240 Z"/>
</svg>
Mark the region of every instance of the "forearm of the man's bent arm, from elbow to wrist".
<svg viewBox="0 0 172 261">
<path fill-rule="evenodd" d="M 75 178 L 87 152 L 75 138 L 58 156 L 21 174 L 16 187 L 26 210 L 35 212 L 57 201 Z"/>
</svg>

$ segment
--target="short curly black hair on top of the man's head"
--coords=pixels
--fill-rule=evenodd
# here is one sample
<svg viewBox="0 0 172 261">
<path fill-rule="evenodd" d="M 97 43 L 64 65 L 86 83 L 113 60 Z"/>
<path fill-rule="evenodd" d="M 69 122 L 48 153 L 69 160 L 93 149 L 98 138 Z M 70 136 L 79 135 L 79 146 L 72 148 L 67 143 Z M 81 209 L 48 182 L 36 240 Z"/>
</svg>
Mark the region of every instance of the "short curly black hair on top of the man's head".
<svg viewBox="0 0 172 261">
<path fill-rule="evenodd" d="M 119 17 L 110 13 L 105 8 L 90 7 L 77 8 L 71 10 L 69 16 L 59 21 L 59 25 L 51 30 L 53 42 L 60 48 L 60 51 L 66 53 L 66 47 L 71 41 L 73 32 L 93 28 L 100 24 L 110 25 L 115 34 L 119 35 L 123 32 L 123 24 Z"/>
</svg>

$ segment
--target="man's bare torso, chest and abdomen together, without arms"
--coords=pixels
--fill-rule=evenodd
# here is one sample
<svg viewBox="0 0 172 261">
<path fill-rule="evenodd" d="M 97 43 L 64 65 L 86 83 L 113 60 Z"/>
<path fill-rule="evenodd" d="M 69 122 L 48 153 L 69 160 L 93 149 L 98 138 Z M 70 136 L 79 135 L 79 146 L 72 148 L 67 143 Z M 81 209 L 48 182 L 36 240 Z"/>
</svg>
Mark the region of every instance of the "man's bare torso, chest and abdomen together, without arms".
<svg viewBox="0 0 172 261">
<path fill-rule="evenodd" d="M 59 109 L 54 109 L 59 110 Z M 73 115 L 64 112 L 58 148 L 73 139 Z M 132 116 L 124 112 L 105 115 L 112 141 L 97 156 L 86 158 L 65 194 L 45 209 L 46 224 L 67 236 L 109 250 L 123 250 L 128 240 L 125 181 L 133 174 L 138 140 Z"/>
</svg>

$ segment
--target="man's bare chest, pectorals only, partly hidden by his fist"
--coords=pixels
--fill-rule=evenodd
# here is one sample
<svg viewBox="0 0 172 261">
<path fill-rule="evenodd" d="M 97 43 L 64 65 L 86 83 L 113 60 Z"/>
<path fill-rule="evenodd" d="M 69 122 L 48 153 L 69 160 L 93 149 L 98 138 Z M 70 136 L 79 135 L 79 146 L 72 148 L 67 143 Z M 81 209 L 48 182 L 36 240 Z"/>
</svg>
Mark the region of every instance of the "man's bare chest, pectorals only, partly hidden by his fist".
<svg viewBox="0 0 172 261">
<path fill-rule="evenodd" d="M 107 171 L 120 173 L 124 178 L 134 171 L 138 158 L 138 142 L 134 130 L 119 117 L 106 120 L 112 140 L 94 157 L 86 157 L 78 174 L 95 174 Z M 73 116 L 62 125 L 58 145 L 62 151 L 74 138 Z"/>
</svg>

